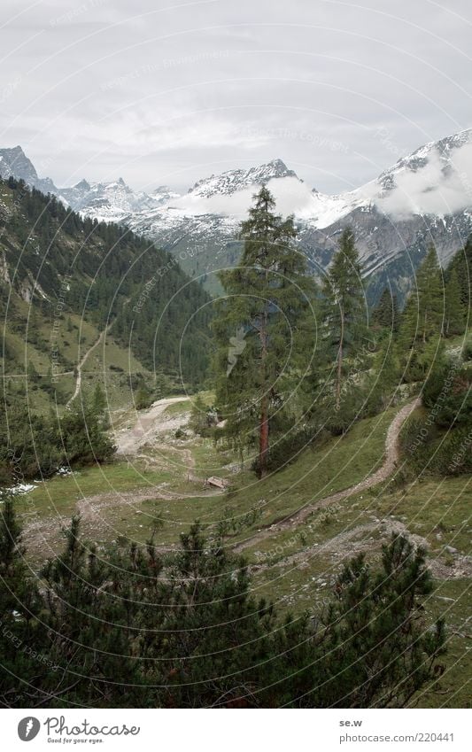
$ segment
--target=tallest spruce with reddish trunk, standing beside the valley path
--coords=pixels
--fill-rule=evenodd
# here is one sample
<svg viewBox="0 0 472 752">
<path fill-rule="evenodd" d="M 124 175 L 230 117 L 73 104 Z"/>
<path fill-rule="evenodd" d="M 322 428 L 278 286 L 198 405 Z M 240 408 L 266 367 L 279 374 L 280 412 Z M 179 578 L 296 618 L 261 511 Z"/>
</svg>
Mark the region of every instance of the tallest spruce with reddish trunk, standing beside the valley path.
<svg viewBox="0 0 472 752">
<path fill-rule="evenodd" d="M 311 358 L 308 328 L 314 283 L 294 247 L 293 218 L 274 212 L 264 186 L 241 225 L 238 267 L 221 272 L 226 296 L 213 322 L 217 342 L 216 395 L 226 436 L 243 451 L 259 441 L 257 469 L 267 472 L 269 434 Z"/>
</svg>

